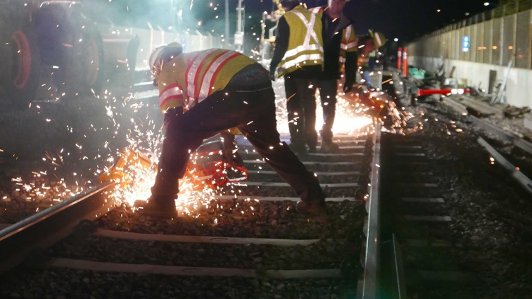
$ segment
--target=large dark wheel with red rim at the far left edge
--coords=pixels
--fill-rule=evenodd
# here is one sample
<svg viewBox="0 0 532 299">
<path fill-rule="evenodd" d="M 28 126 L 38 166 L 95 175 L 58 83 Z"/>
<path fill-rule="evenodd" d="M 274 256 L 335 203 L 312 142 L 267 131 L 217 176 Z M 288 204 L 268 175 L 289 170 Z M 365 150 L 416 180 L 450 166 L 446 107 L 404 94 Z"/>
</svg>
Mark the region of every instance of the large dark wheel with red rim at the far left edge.
<svg viewBox="0 0 532 299">
<path fill-rule="evenodd" d="M 40 53 L 32 25 L 14 30 L 11 34 L 11 82 L 8 98 L 16 108 L 27 108 L 39 87 Z"/>
</svg>

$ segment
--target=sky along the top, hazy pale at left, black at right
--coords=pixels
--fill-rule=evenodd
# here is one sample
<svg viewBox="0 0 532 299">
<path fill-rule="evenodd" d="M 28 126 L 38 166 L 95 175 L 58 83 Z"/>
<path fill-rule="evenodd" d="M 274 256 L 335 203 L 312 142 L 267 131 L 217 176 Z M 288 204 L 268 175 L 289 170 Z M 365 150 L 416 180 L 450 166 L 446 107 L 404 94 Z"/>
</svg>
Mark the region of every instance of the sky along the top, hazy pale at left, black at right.
<svg viewBox="0 0 532 299">
<path fill-rule="evenodd" d="M 170 0 L 82 0 L 84 6 L 93 13 L 91 17 L 108 17 L 113 22 L 129 23 L 135 26 L 170 25 Z M 224 0 L 175 0 L 184 11 L 182 30 L 200 30 L 213 34 L 224 34 Z M 327 4 L 327 0 L 303 0 L 308 6 Z M 469 13 L 469 17 L 481 11 L 495 7 L 496 1 L 490 6 L 484 2 L 490 0 L 350 0 L 345 12 L 355 20 L 358 34 L 373 29 L 383 32 L 388 39 L 397 37 L 400 42 L 412 40 L 420 35 L 432 32 L 444 25 L 455 23 Z M 192 5 L 192 9 L 190 6 Z M 237 0 L 229 0 L 231 12 L 231 31 L 234 32 L 236 15 L 234 13 Z M 212 6 L 211 6 L 212 4 Z M 271 0 L 243 0 L 246 6 L 246 32 L 260 34 L 260 13 L 270 12 Z M 216 10 L 214 8 L 217 8 Z M 438 13 L 437 10 L 441 12 Z M 218 18 L 216 18 L 218 16 Z M 249 18 L 249 17 L 252 18 Z M 201 25 L 198 25 L 201 20 Z M 271 23 L 267 23 L 271 26 Z M 251 29 L 253 28 L 253 29 Z"/>
</svg>

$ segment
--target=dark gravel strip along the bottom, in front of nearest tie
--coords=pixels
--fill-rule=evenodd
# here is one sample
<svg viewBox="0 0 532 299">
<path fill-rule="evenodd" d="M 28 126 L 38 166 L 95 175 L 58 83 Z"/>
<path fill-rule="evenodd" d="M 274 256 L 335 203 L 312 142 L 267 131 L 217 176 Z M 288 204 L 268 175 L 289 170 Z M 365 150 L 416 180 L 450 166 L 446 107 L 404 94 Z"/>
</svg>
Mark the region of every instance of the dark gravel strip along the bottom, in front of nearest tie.
<svg viewBox="0 0 532 299">
<path fill-rule="evenodd" d="M 272 280 L 39 270 L 6 277 L 1 298 L 38 299 L 279 299 L 353 298 L 349 279 Z"/>
</svg>

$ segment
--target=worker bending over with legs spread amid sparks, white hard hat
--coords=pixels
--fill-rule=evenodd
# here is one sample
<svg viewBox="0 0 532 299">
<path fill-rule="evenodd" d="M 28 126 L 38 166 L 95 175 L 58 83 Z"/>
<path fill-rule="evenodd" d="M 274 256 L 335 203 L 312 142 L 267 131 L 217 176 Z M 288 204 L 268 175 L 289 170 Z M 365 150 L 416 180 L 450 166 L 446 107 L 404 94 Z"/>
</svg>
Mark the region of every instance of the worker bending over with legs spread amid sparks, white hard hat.
<svg viewBox="0 0 532 299">
<path fill-rule="evenodd" d="M 317 177 L 279 140 L 275 95 L 265 68 L 235 51 L 182 53 L 177 43 L 156 49 L 150 65 L 159 87 L 166 134 L 156 182 L 141 209 L 143 214 L 176 217 L 178 180 L 190 153 L 204 139 L 233 127 L 300 196 L 299 212 L 325 211 Z"/>
</svg>

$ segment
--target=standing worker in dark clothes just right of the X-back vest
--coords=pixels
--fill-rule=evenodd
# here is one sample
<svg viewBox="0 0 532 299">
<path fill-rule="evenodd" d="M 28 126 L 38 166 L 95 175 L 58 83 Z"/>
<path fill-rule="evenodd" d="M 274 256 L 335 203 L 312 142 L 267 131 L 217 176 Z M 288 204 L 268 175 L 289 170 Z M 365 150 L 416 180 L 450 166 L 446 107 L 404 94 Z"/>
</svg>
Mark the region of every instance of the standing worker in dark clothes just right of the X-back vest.
<svg viewBox="0 0 532 299">
<path fill-rule="evenodd" d="M 322 101 L 323 127 L 322 153 L 338 151 L 338 145 L 332 141 L 332 127 L 336 114 L 336 92 L 341 66 L 345 65 L 346 82 L 343 91 L 353 89 L 357 74 L 357 37 L 350 20 L 343 12 L 349 0 L 333 0 L 322 17 L 324 44 L 324 71 L 318 77 L 317 87 Z"/>
</svg>

